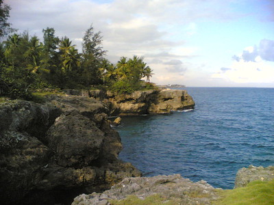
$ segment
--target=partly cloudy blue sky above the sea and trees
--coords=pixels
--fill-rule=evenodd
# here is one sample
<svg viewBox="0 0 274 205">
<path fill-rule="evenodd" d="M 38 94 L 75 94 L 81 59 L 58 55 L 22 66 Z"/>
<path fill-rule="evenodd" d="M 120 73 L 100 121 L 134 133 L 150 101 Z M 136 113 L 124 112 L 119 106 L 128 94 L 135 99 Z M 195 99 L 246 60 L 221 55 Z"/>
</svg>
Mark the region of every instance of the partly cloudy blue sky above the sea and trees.
<svg viewBox="0 0 274 205">
<path fill-rule="evenodd" d="M 92 25 L 106 58 L 144 57 L 151 81 L 274 87 L 274 0 L 5 0 L 9 22 L 42 40 L 53 27 L 82 51 Z"/>
</svg>

